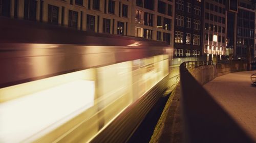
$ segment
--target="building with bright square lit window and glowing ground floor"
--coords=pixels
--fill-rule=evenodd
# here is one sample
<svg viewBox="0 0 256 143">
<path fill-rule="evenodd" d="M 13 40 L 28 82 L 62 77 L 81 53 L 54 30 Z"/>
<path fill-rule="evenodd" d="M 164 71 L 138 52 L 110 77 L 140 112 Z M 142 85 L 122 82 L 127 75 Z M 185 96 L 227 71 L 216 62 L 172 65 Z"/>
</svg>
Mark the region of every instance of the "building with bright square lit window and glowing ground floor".
<svg viewBox="0 0 256 143">
<path fill-rule="evenodd" d="M 226 0 L 205 0 L 203 16 L 203 54 L 207 60 L 214 55 L 221 59 L 226 52 Z"/>
</svg>

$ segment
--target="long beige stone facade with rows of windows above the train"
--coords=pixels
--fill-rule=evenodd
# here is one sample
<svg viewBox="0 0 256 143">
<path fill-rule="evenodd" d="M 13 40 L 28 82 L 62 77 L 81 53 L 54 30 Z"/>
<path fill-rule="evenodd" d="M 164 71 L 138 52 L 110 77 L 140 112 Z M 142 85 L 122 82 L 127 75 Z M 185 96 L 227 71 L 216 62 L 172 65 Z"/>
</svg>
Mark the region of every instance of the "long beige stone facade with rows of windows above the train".
<svg viewBox="0 0 256 143">
<path fill-rule="evenodd" d="M 173 45 L 172 0 L 0 0 L 0 15 Z"/>
</svg>

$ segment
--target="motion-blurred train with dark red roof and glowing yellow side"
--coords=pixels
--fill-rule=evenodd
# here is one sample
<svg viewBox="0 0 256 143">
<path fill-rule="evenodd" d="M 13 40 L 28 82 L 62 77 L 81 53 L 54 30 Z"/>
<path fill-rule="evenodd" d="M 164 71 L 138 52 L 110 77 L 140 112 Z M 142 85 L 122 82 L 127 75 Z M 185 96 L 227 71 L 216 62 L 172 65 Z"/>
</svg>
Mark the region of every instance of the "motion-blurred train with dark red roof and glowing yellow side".
<svg viewBox="0 0 256 143">
<path fill-rule="evenodd" d="M 0 21 L 0 142 L 125 142 L 166 89 L 164 42 Z"/>
</svg>

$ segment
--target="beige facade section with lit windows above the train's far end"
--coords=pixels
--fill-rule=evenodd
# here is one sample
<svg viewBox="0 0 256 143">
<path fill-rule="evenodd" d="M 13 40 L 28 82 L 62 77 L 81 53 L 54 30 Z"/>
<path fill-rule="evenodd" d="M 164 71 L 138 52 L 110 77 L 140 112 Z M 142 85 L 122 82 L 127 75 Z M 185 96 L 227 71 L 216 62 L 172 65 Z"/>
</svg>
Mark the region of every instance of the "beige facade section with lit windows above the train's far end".
<svg viewBox="0 0 256 143">
<path fill-rule="evenodd" d="M 173 8 L 172 0 L 133 1 L 132 36 L 165 41 L 173 46 Z"/>
</svg>

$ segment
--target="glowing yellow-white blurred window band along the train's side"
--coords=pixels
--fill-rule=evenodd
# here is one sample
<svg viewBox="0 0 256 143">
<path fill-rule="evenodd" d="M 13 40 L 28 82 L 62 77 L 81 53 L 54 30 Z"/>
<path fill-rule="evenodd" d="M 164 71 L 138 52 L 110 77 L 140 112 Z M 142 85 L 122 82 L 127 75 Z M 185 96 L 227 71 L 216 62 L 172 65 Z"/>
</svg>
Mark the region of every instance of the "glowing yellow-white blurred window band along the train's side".
<svg viewBox="0 0 256 143">
<path fill-rule="evenodd" d="M 163 54 L 0 89 L 0 142 L 89 142 L 168 73 Z"/>
</svg>

